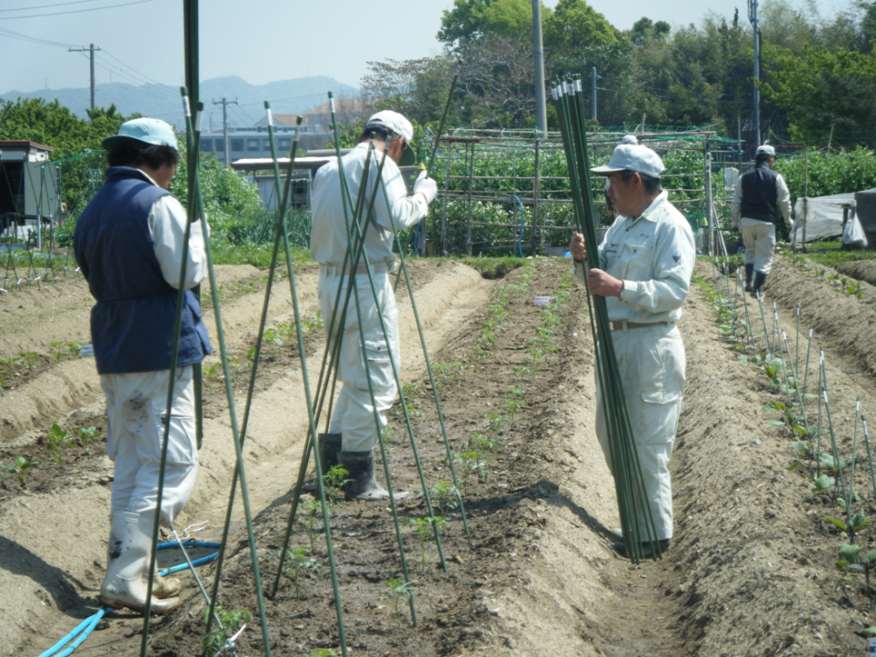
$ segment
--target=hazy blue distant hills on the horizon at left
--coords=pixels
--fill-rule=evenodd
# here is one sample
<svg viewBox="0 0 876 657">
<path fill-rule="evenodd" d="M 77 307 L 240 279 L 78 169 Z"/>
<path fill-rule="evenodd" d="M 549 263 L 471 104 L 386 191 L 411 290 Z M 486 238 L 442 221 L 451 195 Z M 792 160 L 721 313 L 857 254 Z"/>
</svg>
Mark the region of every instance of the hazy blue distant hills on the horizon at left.
<svg viewBox="0 0 876 657">
<path fill-rule="evenodd" d="M 322 105 L 329 91 L 338 97 L 349 97 L 359 93 L 356 87 L 344 85 L 325 75 L 269 82 L 266 85 L 250 85 L 237 75 L 214 77 L 212 80 L 201 82 L 201 100 L 204 101 L 202 127 L 209 129 L 211 120 L 214 128 L 218 129 L 222 126 L 222 106 L 213 105 L 213 101 L 223 96 L 229 101 L 236 99 L 238 103 L 238 105 L 228 105 L 228 124 L 244 127 L 254 125 L 264 116 L 266 100 L 271 102 L 271 110 L 274 114 L 304 114 Z M 69 107 L 72 112 L 82 117 L 85 117 L 85 110 L 91 106 L 91 90 L 88 87 L 41 89 L 34 92 L 10 91 L 0 94 L 0 98 L 13 101 L 19 96 L 45 98 L 48 101 L 57 98 L 61 105 Z M 115 105 L 121 114 L 139 113 L 154 116 L 178 127 L 184 124 L 179 87 L 134 86 L 124 83 L 97 85 L 95 105 L 98 107 Z"/>
</svg>

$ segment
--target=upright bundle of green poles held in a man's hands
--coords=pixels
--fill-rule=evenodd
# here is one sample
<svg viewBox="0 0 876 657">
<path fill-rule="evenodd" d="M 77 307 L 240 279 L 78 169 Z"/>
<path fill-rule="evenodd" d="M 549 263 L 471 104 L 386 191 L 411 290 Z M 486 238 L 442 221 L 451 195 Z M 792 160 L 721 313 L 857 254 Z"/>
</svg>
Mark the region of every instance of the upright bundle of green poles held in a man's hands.
<svg viewBox="0 0 876 657">
<path fill-rule="evenodd" d="M 562 145 L 569 167 L 575 230 L 584 236 L 587 254 L 584 271 L 601 269 L 596 214 L 593 212 L 590 161 L 587 152 L 586 113 L 580 79 L 557 81 L 553 104 L 560 118 Z M 608 431 L 609 453 L 621 519 L 623 544 L 632 562 L 641 562 L 643 543 L 651 543 L 654 559 L 662 556 L 654 526 L 651 505 L 645 492 L 639 454 L 636 451 L 621 373 L 612 342 L 605 297 L 587 291 L 593 342 L 596 347 L 596 376 L 602 391 L 602 411 Z M 644 533 L 642 533 L 642 528 Z"/>
</svg>

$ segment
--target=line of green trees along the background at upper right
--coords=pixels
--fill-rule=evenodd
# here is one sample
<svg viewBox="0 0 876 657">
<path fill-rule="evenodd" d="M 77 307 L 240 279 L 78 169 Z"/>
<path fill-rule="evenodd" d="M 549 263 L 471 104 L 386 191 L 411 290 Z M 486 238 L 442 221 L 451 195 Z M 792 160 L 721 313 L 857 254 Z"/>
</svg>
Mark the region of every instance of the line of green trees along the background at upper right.
<svg viewBox="0 0 876 657">
<path fill-rule="evenodd" d="M 762 0 L 761 128 L 773 144 L 873 146 L 876 142 L 876 0 L 851 0 L 830 16 L 814 3 Z M 594 124 L 710 126 L 754 140 L 753 27 L 706 15 L 699 25 L 672 26 L 643 16 L 619 30 L 584 0 L 542 7 L 545 76 L 596 69 Z M 533 128 L 531 0 L 454 0 L 443 12 L 439 55 L 370 62 L 365 95 L 418 124 L 436 124 L 457 62 L 461 65 L 450 123 Z M 550 86 L 550 84 L 549 84 Z M 549 104 L 549 129 L 558 129 Z"/>
</svg>

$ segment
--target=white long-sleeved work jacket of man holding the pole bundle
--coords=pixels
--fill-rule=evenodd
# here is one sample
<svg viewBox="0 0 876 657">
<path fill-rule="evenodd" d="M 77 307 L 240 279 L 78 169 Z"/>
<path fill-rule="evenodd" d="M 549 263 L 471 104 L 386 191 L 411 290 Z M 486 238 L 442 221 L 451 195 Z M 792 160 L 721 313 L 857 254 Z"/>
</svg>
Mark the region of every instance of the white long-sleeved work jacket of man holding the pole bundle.
<svg viewBox="0 0 876 657">
<path fill-rule="evenodd" d="M 691 225 L 665 191 L 638 219 L 619 214 L 599 245 L 602 270 L 623 282 L 620 298 L 605 298 L 609 320 L 677 322 L 691 289 L 695 255 Z M 584 263 L 575 263 L 574 271 L 586 279 Z"/>
</svg>

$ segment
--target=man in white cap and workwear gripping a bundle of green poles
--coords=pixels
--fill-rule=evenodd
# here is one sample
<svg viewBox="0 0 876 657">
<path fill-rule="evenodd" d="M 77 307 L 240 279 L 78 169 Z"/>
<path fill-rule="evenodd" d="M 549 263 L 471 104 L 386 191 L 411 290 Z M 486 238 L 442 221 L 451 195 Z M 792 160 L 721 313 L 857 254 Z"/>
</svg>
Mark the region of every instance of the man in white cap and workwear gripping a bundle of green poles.
<svg viewBox="0 0 876 657">
<path fill-rule="evenodd" d="M 570 244 L 575 274 L 591 294 L 606 298 L 612 343 L 661 552 L 669 549 L 672 539 L 668 465 L 684 389 L 684 345 L 675 323 L 690 290 L 696 253 L 690 224 L 662 190 L 663 169 L 660 156 L 647 146 L 618 145 L 607 166 L 591 169 L 607 176 L 608 196 L 617 212 L 598 247 L 602 268 L 584 272 L 587 252 L 582 234 L 573 233 Z M 611 469 L 603 402 L 597 385 L 596 435 Z M 652 535 L 642 513 L 637 523 L 640 536 Z M 625 554 L 622 542 L 613 547 Z M 651 543 L 642 543 L 642 555 L 652 556 Z"/>
</svg>

